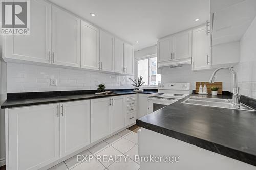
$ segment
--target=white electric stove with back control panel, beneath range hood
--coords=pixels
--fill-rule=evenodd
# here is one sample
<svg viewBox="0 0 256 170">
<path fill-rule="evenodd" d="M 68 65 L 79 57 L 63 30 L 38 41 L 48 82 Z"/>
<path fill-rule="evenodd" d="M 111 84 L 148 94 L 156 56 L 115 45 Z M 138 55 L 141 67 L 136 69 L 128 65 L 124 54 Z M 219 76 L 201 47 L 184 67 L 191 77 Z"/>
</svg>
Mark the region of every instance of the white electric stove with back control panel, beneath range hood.
<svg viewBox="0 0 256 170">
<path fill-rule="evenodd" d="M 148 94 L 148 114 L 185 98 L 189 94 L 189 83 L 158 84 L 158 92 Z"/>
</svg>

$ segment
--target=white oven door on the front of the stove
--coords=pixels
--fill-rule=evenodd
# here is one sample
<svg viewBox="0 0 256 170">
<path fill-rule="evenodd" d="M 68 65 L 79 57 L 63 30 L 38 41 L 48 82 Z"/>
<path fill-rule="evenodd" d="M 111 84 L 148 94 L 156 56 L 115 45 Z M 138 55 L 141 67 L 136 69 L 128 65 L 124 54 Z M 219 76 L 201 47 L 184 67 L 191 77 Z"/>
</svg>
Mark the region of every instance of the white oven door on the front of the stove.
<svg viewBox="0 0 256 170">
<path fill-rule="evenodd" d="M 155 98 L 148 97 L 148 114 L 153 113 L 165 106 L 168 106 L 174 102 L 178 101 L 177 99 L 167 99 L 167 98 Z"/>
</svg>

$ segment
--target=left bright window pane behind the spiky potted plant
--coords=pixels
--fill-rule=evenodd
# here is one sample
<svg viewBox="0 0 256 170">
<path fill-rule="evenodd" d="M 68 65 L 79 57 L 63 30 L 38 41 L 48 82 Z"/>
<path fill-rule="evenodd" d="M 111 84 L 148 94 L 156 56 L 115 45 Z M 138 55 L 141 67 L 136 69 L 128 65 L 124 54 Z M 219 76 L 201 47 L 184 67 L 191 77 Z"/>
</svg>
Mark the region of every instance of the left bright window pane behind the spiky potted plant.
<svg viewBox="0 0 256 170">
<path fill-rule="evenodd" d="M 143 77 L 143 85 L 148 85 L 148 59 L 138 61 L 138 77 Z"/>
</svg>

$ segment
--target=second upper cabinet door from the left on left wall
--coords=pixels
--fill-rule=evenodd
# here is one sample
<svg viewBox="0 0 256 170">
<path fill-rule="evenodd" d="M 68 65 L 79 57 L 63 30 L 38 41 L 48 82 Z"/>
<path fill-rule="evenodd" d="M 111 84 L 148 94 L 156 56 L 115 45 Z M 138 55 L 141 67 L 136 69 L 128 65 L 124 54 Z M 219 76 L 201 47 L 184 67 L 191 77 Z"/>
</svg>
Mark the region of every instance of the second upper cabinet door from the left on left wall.
<svg viewBox="0 0 256 170">
<path fill-rule="evenodd" d="M 52 6 L 52 63 L 80 67 L 79 18 Z"/>
</svg>

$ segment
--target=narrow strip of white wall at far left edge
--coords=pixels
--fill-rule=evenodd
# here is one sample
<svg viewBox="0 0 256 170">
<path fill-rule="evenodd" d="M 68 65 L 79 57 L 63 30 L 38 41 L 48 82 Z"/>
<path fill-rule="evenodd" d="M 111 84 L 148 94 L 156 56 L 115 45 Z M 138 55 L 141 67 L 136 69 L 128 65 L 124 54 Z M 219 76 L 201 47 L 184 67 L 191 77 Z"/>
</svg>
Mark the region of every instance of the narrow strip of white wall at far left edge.
<svg viewBox="0 0 256 170">
<path fill-rule="evenodd" d="M 6 100 L 6 63 L 2 60 L 2 36 L 0 36 L 0 104 Z M 0 166 L 5 164 L 5 113 L 0 109 Z"/>
</svg>

